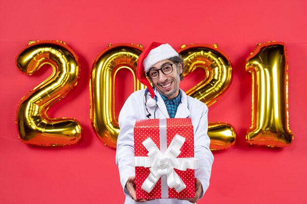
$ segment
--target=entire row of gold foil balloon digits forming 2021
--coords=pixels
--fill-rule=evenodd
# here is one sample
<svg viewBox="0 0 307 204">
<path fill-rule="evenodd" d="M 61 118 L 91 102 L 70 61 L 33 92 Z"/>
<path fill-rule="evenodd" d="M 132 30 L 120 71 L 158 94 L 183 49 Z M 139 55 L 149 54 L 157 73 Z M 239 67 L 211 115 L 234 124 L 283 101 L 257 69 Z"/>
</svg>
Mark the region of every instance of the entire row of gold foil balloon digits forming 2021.
<svg viewBox="0 0 307 204">
<path fill-rule="evenodd" d="M 90 82 L 91 121 L 96 135 L 109 147 L 116 147 L 119 126 L 114 112 L 114 84 L 118 71 L 127 68 L 134 78 L 134 91 L 144 89 L 136 79 L 141 45 L 109 45 L 95 59 Z M 215 103 L 229 88 L 232 65 L 217 45 L 182 45 L 178 51 L 184 59 L 184 73 L 196 68 L 205 70 L 204 79 L 186 91 L 187 95 Z M 51 65 L 51 76 L 24 96 L 17 111 L 19 138 L 33 145 L 52 146 L 76 143 L 82 127 L 73 118 L 50 118 L 48 108 L 77 85 L 79 63 L 75 52 L 58 41 L 30 42 L 17 56 L 17 67 L 31 75 L 45 64 Z M 246 140 L 250 144 L 271 147 L 289 146 L 293 133 L 288 124 L 287 57 L 283 43 L 258 44 L 246 62 L 252 73 L 252 126 Z M 208 124 L 210 149 L 230 148 L 236 133 L 227 122 Z"/>
</svg>

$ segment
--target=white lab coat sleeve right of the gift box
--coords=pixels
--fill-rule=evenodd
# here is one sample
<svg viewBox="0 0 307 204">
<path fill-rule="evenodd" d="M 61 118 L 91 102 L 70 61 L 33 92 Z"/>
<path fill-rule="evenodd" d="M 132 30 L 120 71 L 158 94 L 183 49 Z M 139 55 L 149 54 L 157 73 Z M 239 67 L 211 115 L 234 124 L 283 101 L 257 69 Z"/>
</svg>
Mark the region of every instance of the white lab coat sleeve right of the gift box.
<svg viewBox="0 0 307 204">
<path fill-rule="evenodd" d="M 210 138 L 208 131 L 208 108 L 204 106 L 199 124 L 194 135 L 195 157 L 199 159 L 199 168 L 195 170 L 195 177 L 198 178 L 203 186 L 204 193 L 209 187 L 213 155 L 209 149 Z M 204 194 L 203 194 L 204 195 Z M 201 197 L 203 197 L 201 195 Z"/>
</svg>

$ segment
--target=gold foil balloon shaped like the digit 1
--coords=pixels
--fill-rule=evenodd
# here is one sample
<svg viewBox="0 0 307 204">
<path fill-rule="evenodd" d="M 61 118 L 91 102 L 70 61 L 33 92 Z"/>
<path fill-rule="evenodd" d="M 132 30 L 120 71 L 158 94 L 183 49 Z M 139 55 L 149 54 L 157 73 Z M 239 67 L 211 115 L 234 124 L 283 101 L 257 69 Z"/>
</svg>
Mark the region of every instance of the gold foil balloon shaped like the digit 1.
<svg viewBox="0 0 307 204">
<path fill-rule="evenodd" d="M 259 44 L 247 58 L 252 73 L 252 126 L 247 142 L 270 147 L 290 146 L 287 56 L 284 43 Z"/>
</svg>

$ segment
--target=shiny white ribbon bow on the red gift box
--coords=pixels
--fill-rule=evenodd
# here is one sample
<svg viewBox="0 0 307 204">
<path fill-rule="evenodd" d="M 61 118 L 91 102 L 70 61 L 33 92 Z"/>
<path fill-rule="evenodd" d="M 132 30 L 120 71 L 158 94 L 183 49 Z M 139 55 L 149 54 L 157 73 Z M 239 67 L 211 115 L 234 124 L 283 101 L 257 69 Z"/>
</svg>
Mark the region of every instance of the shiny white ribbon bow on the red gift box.
<svg viewBox="0 0 307 204">
<path fill-rule="evenodd" d="M 148 157 L 134 157 L 134 166 L 151 167 L 150 174 L 142 184 L 142 189 L 150 193 L 154 185 L 159 181 L 162 175 L 167 176 L 167 185 L 175 188 L 179 193 L 186 185 L 180 179 L 174 169 L 186 171 L 186 169 L 197 169 L 197 158 L 177 158 L 181 153 L 185 138 L 178 134 L 173 138 L 171 144 L 163 154 L 155 145 L 152 138 L 147 138 L 142 144 L 148 150 Z"/>
</svg>

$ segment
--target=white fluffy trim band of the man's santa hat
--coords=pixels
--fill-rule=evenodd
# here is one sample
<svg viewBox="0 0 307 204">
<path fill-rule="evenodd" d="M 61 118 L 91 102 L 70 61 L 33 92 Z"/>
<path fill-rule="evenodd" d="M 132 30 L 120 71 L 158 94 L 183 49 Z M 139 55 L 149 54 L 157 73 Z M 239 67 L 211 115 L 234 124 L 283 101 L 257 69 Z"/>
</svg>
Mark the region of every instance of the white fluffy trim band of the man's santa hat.
<svg viewBox="0 0 307 204">
<path fill-rule="evenodd" d="M 155 47 L 148 53 L 143 61 L 144 70 L 147 72 L 154 64 L 175 56 L 179 56 L 179 54 L 169 44 L 162 44 Z"/>
</svg>

